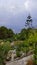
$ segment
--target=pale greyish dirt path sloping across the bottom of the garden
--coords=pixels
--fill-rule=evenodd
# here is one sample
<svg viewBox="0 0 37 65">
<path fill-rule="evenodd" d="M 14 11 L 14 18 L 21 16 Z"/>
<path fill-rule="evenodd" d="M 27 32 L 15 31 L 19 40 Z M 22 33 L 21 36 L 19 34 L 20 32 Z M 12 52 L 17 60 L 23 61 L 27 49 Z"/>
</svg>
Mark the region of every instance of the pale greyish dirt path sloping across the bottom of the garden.
<svg viewBox="0 0 37 65">
<path fill-rule="evenodd" d="M 6 63 L 6 65 L 26 65 L 27 60 L 31 59 L 33 57 L 33 55 L 24 57 L 20 60 L 16 60 L 16 61 L 9 61 Z"/>
</svg>

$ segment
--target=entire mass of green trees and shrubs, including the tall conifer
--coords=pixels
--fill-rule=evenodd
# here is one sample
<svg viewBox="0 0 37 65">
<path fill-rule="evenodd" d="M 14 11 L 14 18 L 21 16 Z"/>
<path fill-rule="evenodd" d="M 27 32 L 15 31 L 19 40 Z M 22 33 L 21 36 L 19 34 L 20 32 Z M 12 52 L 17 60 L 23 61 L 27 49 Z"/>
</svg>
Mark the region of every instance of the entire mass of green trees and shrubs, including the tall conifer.
<svg viewBox="0 0 37 65">
<path fill-rule="evenodd" d="M 11 47 L 10 42 L 12 41 L 15 41 L 15 43 Z M 26 28 L 22 29 L 18 34 L 4 26 L 0 27 L 0 65 L 5 64 L 8 51 L 11 49 L 16 49 L 17 57 L 20 57 L 22 53 L 27 56 L 28 52 L 33 50 L 34 61 L 36 59 L 34 64 L 37 65 L 37 29 L 32 27 L 30 15 L 26 20 Z"/>
</svg>

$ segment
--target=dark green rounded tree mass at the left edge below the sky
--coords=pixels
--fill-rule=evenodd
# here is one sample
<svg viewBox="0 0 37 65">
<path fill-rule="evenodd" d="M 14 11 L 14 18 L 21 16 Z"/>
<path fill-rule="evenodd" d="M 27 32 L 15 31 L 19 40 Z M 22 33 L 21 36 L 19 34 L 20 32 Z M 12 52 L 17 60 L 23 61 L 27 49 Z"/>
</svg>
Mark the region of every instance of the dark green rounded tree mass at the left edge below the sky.
<svg viewBox="0 0 37 65">
<path fill-rule="evenodd" d="M 4 26 L 0 27 L 0 39 L 7 39 L 12 38 L 14 39 L 14 32 L 11 29 L 8 29 Z"/>
</svg>

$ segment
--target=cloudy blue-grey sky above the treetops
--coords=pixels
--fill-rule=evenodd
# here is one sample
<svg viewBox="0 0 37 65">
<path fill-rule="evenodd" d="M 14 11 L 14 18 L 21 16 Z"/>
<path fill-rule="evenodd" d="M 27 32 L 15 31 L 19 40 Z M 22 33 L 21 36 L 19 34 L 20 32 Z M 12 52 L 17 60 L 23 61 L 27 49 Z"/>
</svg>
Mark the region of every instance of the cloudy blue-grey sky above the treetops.
<svg viewBox="0 0 37 65">
<path fill-rule="evenodd" d="M 0 26 L 20 32 L 29 14 L 37 27 L 37 0 L 0 0 Z"/>
</svg>

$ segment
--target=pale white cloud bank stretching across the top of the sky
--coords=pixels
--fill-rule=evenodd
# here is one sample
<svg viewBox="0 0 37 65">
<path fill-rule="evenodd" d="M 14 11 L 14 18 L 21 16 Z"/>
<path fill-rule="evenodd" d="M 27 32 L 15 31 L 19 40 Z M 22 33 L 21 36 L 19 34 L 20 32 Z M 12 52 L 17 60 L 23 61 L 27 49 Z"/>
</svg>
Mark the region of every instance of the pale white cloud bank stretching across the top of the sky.
<svg viewBox="0 0 37 65">
<path fill-rule="evenodd" d="M 13 14 L 36 10 L 37 0 L 0 0 L 0 11 Z"/>
</svg>

